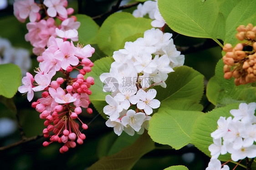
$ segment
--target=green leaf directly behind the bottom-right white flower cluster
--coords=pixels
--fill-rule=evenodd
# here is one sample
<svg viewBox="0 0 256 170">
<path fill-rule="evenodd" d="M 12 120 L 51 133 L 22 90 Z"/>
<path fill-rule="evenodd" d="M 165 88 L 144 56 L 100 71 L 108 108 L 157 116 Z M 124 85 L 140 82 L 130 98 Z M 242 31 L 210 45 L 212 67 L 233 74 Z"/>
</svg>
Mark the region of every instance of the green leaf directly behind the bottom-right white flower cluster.
<svg viewBox="0 0 256 170">
<path fill-rule="evenodd" d="M 212 132 L 217 129 L 217 121 L 220 119 L 220 116 L 223 117 L 232 117 L 230 114 L 231 109 L 238 109 L 239 104 L 231 104 L 225 107 L 220 107 L 214 109 L 205 115 L 200 116 L 192 127 L 191 131 L 191 140 L 192 144 L 195 145 L 199 150 L 204 152 L 206 155 L 210 156 L 210 151 L 208 147 L 213 144 L 213 139 L 210 136 Z M 227 161 L 230 160 L 230 155 L 220 155 L 219 160 Z"/>
</svg>

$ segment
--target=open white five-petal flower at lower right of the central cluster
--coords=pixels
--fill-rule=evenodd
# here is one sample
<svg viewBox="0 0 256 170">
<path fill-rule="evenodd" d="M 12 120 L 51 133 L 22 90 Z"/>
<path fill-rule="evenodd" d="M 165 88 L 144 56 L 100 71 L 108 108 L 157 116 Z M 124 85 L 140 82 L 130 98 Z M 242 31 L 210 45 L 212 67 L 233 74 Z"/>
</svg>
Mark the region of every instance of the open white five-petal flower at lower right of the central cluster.
<svg viewBox="0 0 256 170">
<path fill-rule="evenodd" d="M 156 90 L 149 89 L 148 92 L 145 92 L 144 90 L 140 89 L 138 90 L 137 95 L 140 99 L 140 101 L 137 103 L 137 107 L 138 109 L 143 109 L 147 115 L 153 113 L 152 108 L 159 108 L 160 101 L 154 99 L 156 96 Z"/>
</svg>

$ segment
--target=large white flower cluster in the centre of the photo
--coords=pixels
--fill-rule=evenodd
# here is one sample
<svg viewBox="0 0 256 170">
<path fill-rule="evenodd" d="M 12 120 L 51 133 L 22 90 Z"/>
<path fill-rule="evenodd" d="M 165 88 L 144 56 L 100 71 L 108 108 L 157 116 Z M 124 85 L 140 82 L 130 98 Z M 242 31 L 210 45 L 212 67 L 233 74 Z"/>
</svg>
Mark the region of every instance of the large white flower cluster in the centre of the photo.
<svg viewBox="0 0 256 170">
<path fill-rule="evenodd" d="M 171 36 L 155 28 L 145 31 L 143 38 L 126 42 L 124 49 L 115 51 L 110 72 L 100 75 L 106 84 L 103 91 L 112 92 L 112 96 L 106 96 L 108 105 L 103 108 L 109 116 L 106 125 L 114 127 L 117 135 L 123 130 L 129 135 L 134 135 L 134 130 L 142 134 L 147 129 L 151 118 L 148 115 L 160 106 L 159 100 L 154 99 L 156 90 L 148 88 L 165 88 L 168 73 L 184 64 L 184 55 L 176 50 Z M 132 105 L 137 111 L 128 110 Z"/>
</svg>

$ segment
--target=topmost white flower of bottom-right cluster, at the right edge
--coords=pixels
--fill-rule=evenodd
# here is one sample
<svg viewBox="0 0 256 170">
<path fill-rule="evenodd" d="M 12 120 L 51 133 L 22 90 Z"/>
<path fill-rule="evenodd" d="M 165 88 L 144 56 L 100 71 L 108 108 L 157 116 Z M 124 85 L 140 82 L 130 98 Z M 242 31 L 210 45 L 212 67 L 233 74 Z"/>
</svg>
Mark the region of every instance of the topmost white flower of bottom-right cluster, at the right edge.
<svg viewBox="0 0 256 170">
<path fill-rule="evenodd" d="M 248 123 L 255 120 L 255 109 L 255 102 L 249 103 L 248 105 L 246 103 L 241 103 L 239 109 L 232 109 L 230 110 L 230 113 L 234 116 L 234 121 L 241 120 L 242 122 Z"/>
</svg>

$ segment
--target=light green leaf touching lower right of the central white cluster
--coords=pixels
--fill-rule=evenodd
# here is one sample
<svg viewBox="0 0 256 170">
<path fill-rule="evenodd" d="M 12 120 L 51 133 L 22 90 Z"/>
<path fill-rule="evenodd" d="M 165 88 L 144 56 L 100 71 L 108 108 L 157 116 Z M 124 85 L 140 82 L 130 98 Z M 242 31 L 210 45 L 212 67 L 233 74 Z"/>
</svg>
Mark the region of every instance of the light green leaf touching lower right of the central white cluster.
<svg viewBox="0 0 256 170">
<path fill-rule="evenodd" d="M 161 106 L 149 121 L 148 134 L 155 142 L 178 150 L 191 143 L 191 127 L 201 115 L 200 111 L 172 110 L 168 105 Z"/>
</svg>

